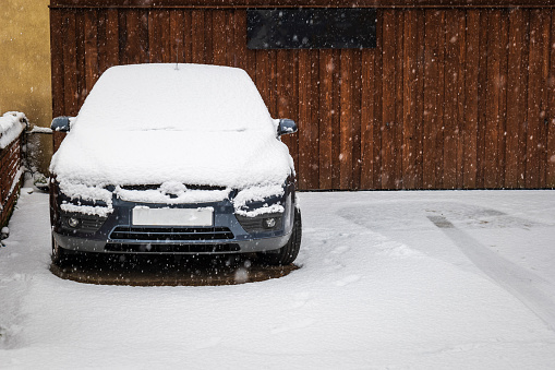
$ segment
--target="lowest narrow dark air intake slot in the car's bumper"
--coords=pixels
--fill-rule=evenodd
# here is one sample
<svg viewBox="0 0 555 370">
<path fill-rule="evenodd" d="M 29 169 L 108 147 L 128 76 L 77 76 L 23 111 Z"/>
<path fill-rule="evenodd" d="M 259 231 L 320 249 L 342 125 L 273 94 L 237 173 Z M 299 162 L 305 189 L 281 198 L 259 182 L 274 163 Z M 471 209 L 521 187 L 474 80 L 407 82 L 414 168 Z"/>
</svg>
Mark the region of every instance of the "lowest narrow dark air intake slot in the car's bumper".
<svg viewBox="0 0 555 370">
<path fill-rule="evenodd" d="M 123 253 L 224 253 L 239 252 L 239 244 L 130 244 L 130 243 L 107 243 L 105 250 L 108 252 Z"/>
</svg>

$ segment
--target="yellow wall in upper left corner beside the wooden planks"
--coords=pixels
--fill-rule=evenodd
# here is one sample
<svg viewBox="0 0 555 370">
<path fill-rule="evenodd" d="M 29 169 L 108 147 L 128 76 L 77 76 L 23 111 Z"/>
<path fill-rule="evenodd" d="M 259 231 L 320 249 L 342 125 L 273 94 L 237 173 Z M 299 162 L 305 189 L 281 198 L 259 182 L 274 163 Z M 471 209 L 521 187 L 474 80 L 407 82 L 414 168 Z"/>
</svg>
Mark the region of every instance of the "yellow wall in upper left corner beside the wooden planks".
<svg viewBox="0 0 555 370">
<path fill-rule="evenodd" d="M 0 115 L 23 111 L 36 126 L 49 127 L 50 0 L 0 0 Z M 51 138 L 44 138 L 45 164 Z"/>
</svg>

